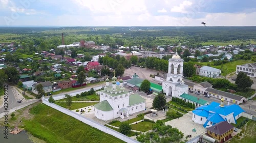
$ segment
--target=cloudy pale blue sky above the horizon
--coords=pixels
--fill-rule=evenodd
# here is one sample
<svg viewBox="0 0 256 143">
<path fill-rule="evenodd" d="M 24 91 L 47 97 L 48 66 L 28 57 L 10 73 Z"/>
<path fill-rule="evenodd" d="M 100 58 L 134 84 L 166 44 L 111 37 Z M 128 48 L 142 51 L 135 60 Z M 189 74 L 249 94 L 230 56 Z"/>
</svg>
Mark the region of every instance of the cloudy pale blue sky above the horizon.
<svg viewBox="0 0 256 143">
<path fill-rule="evenodd" d="M 255 0 L 0 0 L 1 26 L 256 26 Z"/>
</svg>

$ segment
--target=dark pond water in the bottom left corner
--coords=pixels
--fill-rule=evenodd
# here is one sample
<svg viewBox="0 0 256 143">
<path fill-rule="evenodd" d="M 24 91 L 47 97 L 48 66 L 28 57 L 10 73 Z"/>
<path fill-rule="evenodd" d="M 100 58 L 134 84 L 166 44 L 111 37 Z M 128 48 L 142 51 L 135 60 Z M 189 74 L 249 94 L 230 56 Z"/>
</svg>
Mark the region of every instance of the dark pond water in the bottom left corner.
<svg viewBox="0 0 256 143">
<path fill-rule="evenodd" d="M 0 127 L 0 142 L 5 142 L 5 143 L 13 143 L 13 142 L 19 142 L 19 143 L 33 143 L 31 140 L 28 138 L 28 133 L 27 131 L 23 130 L 18 134 L 11 134 L 8 133 L 8 139 L 4 138 L 4 131 L 3 127 Z"/>
</svg>

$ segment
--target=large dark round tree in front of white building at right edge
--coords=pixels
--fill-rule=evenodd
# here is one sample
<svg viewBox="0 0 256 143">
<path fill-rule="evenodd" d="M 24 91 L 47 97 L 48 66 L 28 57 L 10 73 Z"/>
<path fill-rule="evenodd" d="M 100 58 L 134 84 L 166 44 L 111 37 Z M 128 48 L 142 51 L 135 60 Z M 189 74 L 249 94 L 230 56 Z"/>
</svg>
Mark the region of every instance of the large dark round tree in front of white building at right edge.
<svg viewBox="0 0 256 143">
<path fill-rule="evenodd" d="M 238 89 L 242 90 L 251 87 L 253 81 L 244 72 L 239 72 L 235 83 L 238 85 Z"/>
</svg>

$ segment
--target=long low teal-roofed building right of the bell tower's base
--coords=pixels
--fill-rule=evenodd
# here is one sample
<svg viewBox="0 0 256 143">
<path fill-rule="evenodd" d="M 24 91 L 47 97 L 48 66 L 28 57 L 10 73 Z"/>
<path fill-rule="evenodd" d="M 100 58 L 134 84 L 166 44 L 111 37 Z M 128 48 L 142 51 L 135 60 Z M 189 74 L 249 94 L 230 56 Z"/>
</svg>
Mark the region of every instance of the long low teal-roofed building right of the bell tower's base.
<svg viewBox="0 0 256 143">
<path fill-rule="evenodd" d="M 188 94 L 185 94 L 185 93 L 183 93 L 180 96 L 180 98 L 185 100 L 186 102 L 188 101 L 190 103 L 195 103 L 196 107 L 200 107 L 200 106 L 207 105 L 207 104 L 210 103 L 209 101 L 206 101 L 206 100 L 203 100 L 201 98 L 197 98 L 195 96 L 191 96 L 191 95 L 188 95 Z"/>
</svg>

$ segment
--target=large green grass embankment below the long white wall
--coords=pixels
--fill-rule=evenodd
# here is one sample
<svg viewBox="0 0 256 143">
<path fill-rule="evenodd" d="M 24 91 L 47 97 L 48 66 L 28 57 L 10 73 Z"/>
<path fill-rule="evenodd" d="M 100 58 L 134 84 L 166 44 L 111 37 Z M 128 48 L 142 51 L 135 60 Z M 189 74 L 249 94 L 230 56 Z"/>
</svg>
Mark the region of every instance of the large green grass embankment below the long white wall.
<svg viewBox="0 0 256 143">
<path fill-rule="evenodd" d="M 47 142 L 123 142 L 45 104 L 34 106 L 30 113 L 34 117 L 24 121 L 25 129 Z"/>
</svg>

